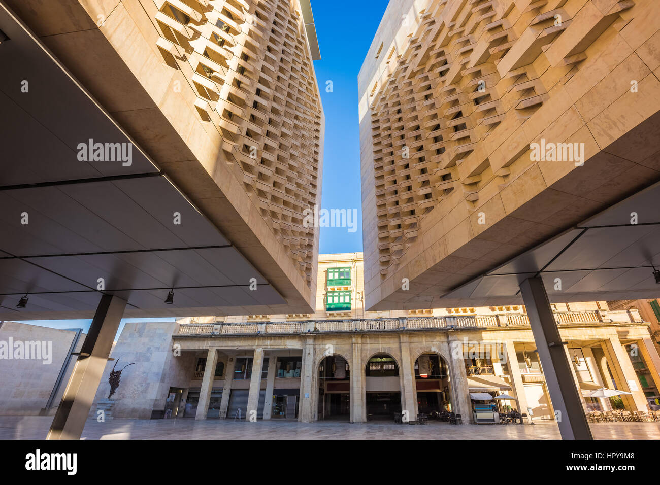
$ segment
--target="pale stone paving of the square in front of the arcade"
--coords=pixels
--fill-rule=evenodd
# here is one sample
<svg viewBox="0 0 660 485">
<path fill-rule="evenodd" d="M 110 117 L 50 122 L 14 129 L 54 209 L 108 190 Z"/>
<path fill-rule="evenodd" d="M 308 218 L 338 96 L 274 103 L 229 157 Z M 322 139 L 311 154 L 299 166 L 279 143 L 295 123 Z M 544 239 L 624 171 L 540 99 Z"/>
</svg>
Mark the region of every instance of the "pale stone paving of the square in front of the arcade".
<svg viewBox="0 0 660 485">
<path fill-rule="evenodd" d="M 44 439 L 51 416 L 0 416 L 0 439 Z M 660 439 L 660 423 L 591 424 L 596 439 Z M 390 422 L 300 423 L 172 419 L 88 420 L 83 439 L 559 439 L 554 423 L 463 425 L 429 422 L 425 426 Z"/>
</svg>

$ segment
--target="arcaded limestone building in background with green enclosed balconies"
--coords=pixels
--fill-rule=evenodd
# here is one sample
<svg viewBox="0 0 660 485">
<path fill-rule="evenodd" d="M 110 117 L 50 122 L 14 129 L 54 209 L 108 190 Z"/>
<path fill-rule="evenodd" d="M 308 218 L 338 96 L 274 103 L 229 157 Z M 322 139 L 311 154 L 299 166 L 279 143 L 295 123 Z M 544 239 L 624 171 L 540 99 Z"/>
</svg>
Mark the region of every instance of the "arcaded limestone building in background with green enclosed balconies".
<svg viewBox="0 0 660 485">
<path fill-rule="evenodd" d="M 507 393 L 503 406 L 552 419 L 523 306 L 365 311 L 362 264 L 361 253 L 320 255 L 309 315 L 127 323 L 112 357 L 136 364 L 114 416 L 249 419 L 254 410 L 257 419 L 364 422 L 407 410 L 413 420 L 453 412 L 470 423 L 473 397 Z M 607 302 L 553 311 L 585 410 L 611 409 L 587 397 L 597 387 L 630 392 L 622 406 L 631 412 L 656 407 L 660 357 L 638 311 Z M 96 401 L 107 393 L 104 378 Z"/>
</svg>

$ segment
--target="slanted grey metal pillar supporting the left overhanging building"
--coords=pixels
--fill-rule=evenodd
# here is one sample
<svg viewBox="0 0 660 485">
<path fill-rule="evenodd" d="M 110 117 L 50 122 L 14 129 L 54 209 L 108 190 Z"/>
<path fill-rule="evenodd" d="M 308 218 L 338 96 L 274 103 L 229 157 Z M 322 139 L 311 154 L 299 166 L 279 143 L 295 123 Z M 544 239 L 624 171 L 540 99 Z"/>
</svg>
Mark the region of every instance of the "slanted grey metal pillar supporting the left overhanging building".
<svg viewBox="0 0 660 485">
<path fill-rule="evenodd" d="M 46 439 L 80 439 L 125 307 L 117 296 L 101 297 Z"/>
</svg>

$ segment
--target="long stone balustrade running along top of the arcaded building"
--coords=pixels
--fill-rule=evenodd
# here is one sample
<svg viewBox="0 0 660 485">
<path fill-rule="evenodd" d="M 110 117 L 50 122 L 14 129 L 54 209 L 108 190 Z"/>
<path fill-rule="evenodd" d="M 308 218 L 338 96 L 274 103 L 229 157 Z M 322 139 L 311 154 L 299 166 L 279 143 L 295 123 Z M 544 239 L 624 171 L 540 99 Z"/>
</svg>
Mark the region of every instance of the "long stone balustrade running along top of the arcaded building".
<svg viewBox="0 0 660 485">
<path fill-rule="evenodd" d="M 598 325 L 603 323 L 642 323 L 636 311 L 567 311 L 555 313 L 560 326 Z M 432 329 L 496 329 L 529 327 L 527 315 L 461 315 L 446 317 L 403 317 L 378 319 L 275 321 L 250 323 L 182 323 L 177 336 L 198 335 L 281 335 L 310 332 L 378 332 Z"/>
</svg>

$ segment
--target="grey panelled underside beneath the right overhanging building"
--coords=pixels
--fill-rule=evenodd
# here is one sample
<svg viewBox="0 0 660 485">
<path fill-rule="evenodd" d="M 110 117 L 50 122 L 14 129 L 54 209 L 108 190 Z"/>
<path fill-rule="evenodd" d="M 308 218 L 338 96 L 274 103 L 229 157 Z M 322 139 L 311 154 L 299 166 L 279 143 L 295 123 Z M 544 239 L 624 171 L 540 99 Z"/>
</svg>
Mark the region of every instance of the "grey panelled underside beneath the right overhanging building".
<svg viewBox="0 0 660 485">
<path fill-rule="evenodd" d="M 660 182 L 442 295 L 447 306 L 521 304 L 519 284 L 543 278 L 550 302 L 657 298 Z"/>
</svg>

